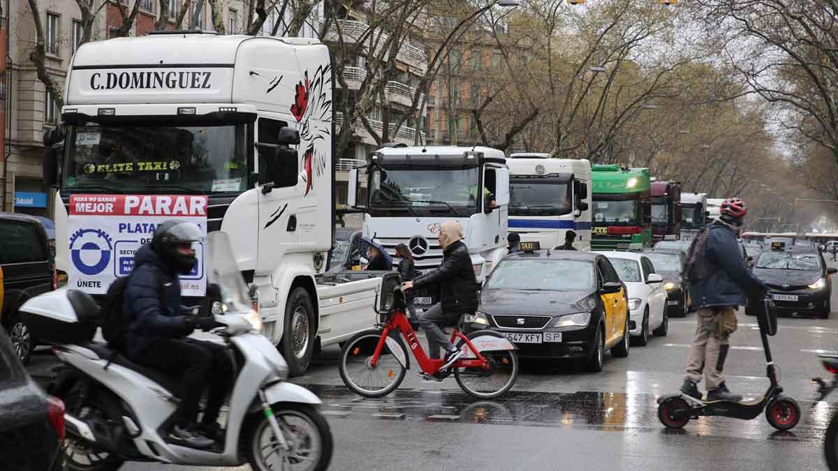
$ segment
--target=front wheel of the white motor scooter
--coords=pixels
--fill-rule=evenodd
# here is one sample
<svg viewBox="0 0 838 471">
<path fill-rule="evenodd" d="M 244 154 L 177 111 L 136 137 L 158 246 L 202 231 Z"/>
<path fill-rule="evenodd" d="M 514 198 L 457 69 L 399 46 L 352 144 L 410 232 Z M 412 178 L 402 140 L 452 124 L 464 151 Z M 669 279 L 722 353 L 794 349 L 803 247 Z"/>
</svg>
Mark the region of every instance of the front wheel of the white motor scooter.
<svg viewBox="0 0 838 471">
<path fill-rule="evenodd" d="M 255 414 L 250 424 L 247 462 L 254 471 L 321 471 L 332 460 L 334 443 L 328 422 L 313 406 L 297 403 L 273 405 L 282 436 L 288 445 L 284 451 L 264 414 Z"/>
</svg>

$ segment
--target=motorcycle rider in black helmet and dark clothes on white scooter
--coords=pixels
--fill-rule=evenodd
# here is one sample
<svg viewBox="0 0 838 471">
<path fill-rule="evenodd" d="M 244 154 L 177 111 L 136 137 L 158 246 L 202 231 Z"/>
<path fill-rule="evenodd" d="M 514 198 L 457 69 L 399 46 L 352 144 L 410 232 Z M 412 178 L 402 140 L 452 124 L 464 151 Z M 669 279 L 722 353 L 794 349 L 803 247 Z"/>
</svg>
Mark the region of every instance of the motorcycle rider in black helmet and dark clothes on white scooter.
<svg viewBox="0 0 838 471">
<path fill-rule="evenodd" d="M 193 270 L 193 244 L 204 235 L 197 225 L 168 220 L 154 230 L 151 243 L 140 247 L 127 282 L 122 312 L 127 320 L 124 353 L 140 364 L 180 378 L 178 417 L 168 441 L 190 448 L 210 448 L 218 433 L 231 365 L 223 345 L 187 339 L 196 328 L 215 327 L 213 318 L 187 316 L 180 303 L 178 274 Z M 209 400 L 201 425 L 198 406 L 204 385 Z"/>
</svg>

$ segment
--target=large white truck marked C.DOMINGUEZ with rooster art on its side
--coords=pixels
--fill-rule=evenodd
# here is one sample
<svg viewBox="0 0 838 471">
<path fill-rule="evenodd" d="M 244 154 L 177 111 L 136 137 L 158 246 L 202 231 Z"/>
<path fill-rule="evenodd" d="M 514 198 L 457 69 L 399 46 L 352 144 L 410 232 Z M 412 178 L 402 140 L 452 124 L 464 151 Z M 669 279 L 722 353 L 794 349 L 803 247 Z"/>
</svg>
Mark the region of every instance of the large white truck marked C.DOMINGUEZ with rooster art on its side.
<svg viewBox="0 0 838 471">
<path fill-rule="evenodd" d="M 88 219 L 81 245 L 68 230 L 71 200 L 150 201 L 147 210 L 163 208 L 159 219 L 183 196 L 197 210 L 206 204 L 206 230 L 230 236 L 264 334 L 293 375 L 318 344 L 370 328 L 380 278 L 324 276 L 334 239 L 333 83 L 328 49 L 313 39 L 165 31 L 82 45 L 67 73 L 63 123 L 44 139 L 64 142 L 44 174 L 59 187 L 55 261 L 70 287 L 87 286 L 79 267 L 125 274 L 115 259 L 126 236 L 122 226 L 106 234 L 101 213 Z M 154 224 L 127 227 L 136 244 Z"/>
</svg>

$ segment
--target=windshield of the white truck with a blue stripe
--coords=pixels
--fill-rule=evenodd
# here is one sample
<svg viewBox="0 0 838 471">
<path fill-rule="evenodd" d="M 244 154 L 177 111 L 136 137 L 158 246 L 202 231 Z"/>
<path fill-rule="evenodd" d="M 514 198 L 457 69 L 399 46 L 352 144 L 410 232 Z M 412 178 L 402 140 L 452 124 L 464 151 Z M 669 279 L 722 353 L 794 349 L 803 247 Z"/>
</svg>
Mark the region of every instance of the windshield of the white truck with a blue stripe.
<svg viewBox="0 0 838 471">
<path fill-rule="evenodd" d="M 573 210 L 567 179 L 514 177 L 510 179 L 510 216 L 566 215 Z"/>
</svg>

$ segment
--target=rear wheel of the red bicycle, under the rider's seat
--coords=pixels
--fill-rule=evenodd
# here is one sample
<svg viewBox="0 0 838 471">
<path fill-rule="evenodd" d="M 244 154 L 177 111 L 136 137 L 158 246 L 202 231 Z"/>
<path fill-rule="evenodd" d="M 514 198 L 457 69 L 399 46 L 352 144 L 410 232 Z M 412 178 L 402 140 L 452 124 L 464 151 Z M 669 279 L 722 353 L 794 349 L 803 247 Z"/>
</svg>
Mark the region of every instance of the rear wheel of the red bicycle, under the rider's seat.
<svg viewBox="0 0 838 471">
<path fill-rule="evenodd" d="M 473 333 L 474 334 L 474 333 Z M 468 336 L 472 338 L 471 335 Z M 465 342 L 460 341 L 462 347 Z M 455 368 L 457 384 L 469 396 L 478 399 L 494 399 L 510 391 L 518 379 L 518 354 L 515 350 L 493 350 L 480 352 L 489 361 L 487 368 Z"/>
</svg>

